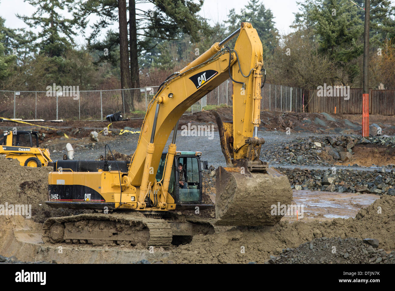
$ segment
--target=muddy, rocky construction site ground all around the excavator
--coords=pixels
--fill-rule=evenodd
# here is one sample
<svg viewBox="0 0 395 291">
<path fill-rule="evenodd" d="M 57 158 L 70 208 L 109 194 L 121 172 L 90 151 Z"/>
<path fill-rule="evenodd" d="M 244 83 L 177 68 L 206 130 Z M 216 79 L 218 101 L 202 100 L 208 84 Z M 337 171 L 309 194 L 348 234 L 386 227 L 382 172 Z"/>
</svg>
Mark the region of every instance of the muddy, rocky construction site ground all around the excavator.
<svg viewBox="0 0 395 291">
<path fill-rule="evenodd" d="M 220 107 L 218 111 L 223 120 L 231 120 L 231 108 Z M 0 204 L 32 205 L 30 219 L 0 215 L 0 262 L 393 263 L 395 116 L 370 116 L 370 123 L 379 126 L 382 135 L 374 133 L 367 141 L 360 136 L 361 120 L 361 116 L 340 114 L 261 112 L 259 135 L 265 139 L 261 159 L 288 176 L 293 188 L 292 204 L 304 206 L 303 217 L 286 215 L 275 226 L 215 226 L 214 234 L 194 236 L 189 243 L 155 248 L 153 252 L 142 245 L 44 244 L 41 230 L 48 217 L 89 211 L 47 207 L 51 167 L 22 167 L 0 156 Z M 106 144 L 113 151 L 133 154 L 138 133 L 119 133 L 121 129 L 139 131 L 141 122 L 142 119 L 114 122 L 109 134 L 100 133 L 98 141 L 90 139 L 90 132 L 101 131 L 109 122 L 38 123 L 55 129 L 0 122 L 0 131 L 13 127 L 39 131 L 40 146 L 49 148 L 53 160 L 62 159 L 66 143 L 73 146 L 75 159 L 96 160 L 104 155 Z M 182 126 L 189 122 L 213 126 L 213 135 L 184 135 Z M 201 159 L 210 166 L 203 173 L 203 199 L 205 203 L 215 203 L 215 169 L 224 166 L 225 159 L 210 111 L 182 116 L 177 150 L 202 152 Z M 199 214 L 178 213 L 214 218 L 213 209 Z M 376 239 L 379 244 L 362 241 L 367 238 Z M 325 245 L 336 245 L 338 251 L 333 253 Z"/>
</svg>

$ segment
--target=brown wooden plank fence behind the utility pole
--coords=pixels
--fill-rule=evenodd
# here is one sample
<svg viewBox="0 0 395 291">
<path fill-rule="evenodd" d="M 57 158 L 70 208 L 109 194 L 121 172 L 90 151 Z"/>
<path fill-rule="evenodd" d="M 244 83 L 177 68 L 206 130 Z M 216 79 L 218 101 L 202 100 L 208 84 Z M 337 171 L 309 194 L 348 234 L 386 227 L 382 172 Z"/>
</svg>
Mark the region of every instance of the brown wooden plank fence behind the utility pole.
<svg viewBox="0 0 395 291">
<path fill-rule="evenodd" d="M 308 112 L 362 114 L 362 89 L 350 89 L 350 99 L 318 97 L 318 90 L 310 90 Z M 369 90 L 369 114 L 395 115 L 395 90 Z"/>
</svg>

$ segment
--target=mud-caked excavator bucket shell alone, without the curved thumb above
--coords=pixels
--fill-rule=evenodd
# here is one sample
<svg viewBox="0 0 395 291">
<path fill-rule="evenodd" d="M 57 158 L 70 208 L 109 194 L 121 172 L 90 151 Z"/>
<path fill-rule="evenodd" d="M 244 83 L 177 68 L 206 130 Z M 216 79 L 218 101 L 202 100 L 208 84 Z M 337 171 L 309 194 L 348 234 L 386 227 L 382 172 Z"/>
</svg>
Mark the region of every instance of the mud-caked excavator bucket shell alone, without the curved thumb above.
<svg viewBox="0 0 395 291">
<path fill-rule="evenodd" d="M 237 167 L 218 167 L 215 188 L 219 225 L 275 225 L 282 218 L 278 207 L 292 200 L 288 178 L 274 168 L 247 174 Z"/>
</svg>

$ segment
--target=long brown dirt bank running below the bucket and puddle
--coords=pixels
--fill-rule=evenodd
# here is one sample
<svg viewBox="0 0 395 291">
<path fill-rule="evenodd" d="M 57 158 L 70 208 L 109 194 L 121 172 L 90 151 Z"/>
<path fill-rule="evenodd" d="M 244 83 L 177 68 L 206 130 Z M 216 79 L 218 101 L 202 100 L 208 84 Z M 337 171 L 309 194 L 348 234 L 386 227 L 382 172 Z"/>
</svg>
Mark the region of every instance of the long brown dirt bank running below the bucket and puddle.
<svg viewBox="0 0 395 291">
<path fill-rule="evenodd" d="M 263 263 L 270 255 L 282 253 L 314 238 L 374 238 L 385 251 L 395 250 L 395 197 L 382 196 L 354 219 L 334 219 L 289 223 L 273 227 L 216 228 L 213 235 L 194 236 L 188 245 L 172 250 L 170 262 L 176 263 Z"/>
</svg>

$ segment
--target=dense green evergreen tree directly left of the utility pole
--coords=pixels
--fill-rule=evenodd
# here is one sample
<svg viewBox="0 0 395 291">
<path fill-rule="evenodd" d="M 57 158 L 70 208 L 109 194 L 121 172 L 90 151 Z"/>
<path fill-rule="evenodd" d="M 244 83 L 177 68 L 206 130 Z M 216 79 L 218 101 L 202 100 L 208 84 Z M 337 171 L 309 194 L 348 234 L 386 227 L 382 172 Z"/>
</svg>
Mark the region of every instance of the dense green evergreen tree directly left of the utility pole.
<svg viewBox="0 0 395 291">
<path fill-rule="evenodd" d="M 350 84 L 359 74 L 357 57 L 363 51 L 363 21 L 359 9 L 348 0 L 317 0 L 301 4 L 295 14 L 294 27 L 310 27 L 313 40 L 320 44 L 319 53 L 329 56 Z M 306 24 L 306 25 L 305 25 Z"/>
</svg>

